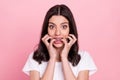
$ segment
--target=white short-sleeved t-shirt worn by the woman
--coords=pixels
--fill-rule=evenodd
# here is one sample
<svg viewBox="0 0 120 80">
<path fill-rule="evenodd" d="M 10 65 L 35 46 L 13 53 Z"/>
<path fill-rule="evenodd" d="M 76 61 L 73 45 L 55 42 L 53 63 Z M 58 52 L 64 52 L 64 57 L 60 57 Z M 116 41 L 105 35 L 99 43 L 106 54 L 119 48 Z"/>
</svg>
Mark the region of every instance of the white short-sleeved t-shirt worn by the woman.
<svg viewBox="0 0 120 80">
<path fill-rule="evenodd" d="M 86 51 L 79 51 L 78 54 L 80 54 L 81 60 L 77 66 L 74 67 L 69 62 L 74 75 L 77 77 L 78 73 L 82 70 L 89 70 L 89 75 L 92 75 L 93 73 L 95 73 L 97 71 L 97 67 L 92 57 L 90 56 L 90 54 Z M 42 62 L 42 64 L 39 64 L 32 58 L 32 56 L 33 56 L 33 52 L 29 55 L 29 58 L 23 67 L 23 72 L 29 75 L 29 71 L 36 70 L 40 72 L 40 77 L 42 77 L 45 72 L 48 62 Z M 55 63 L 53 80 L 64 80 L 61 62 Z"/>
</svg>

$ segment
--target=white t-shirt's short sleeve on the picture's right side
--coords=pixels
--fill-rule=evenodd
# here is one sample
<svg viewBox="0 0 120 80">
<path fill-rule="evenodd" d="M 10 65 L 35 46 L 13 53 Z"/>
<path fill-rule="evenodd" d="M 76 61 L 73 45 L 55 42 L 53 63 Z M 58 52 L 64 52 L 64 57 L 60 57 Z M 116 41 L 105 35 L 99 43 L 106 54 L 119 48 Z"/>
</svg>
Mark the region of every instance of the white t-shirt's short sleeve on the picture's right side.
<svg viewBox="0 0 120 80">
<path fill-rule="evenodd" d="M 97 67 L 87 51 L 79 52 L 81 60 L 78 64 L 78 71 L 89 70 L 89 75 L 94 74 L 97 71 Z"/>
</svg>

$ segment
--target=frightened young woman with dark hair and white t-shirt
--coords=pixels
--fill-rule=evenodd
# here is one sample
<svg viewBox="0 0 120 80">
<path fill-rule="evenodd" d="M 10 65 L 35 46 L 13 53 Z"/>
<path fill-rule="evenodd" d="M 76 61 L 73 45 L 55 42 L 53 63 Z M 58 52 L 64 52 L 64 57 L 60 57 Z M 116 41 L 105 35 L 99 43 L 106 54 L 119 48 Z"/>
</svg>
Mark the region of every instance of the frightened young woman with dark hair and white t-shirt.
<svg viewBox="0 0 120 80">
<path fill-rule="evenodd" d="M 97 70 L 86 51 L 79 50 L 71 10 L 55 5 L 45 16 L 38 48 L 23 68 L 30 80 L 89 80 Z"/>
</svg>

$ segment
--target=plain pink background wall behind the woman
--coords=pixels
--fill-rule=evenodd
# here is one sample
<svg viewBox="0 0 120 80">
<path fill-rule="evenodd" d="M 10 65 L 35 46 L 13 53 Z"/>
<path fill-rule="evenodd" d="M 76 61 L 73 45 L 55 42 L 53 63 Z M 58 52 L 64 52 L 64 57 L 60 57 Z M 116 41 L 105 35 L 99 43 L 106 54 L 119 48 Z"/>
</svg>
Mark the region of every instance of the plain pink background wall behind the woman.
<svg viewBox="0 0 120 80">
<path fill-rule="evenodd" d="M 29 80 L 22 68 L 46 11 L 61 3 L 74 14 L 80 49 L 98 67 L 90 80 L 120 80 L 120 0 L 0 0 L 0 80 Z"/>
</svg>

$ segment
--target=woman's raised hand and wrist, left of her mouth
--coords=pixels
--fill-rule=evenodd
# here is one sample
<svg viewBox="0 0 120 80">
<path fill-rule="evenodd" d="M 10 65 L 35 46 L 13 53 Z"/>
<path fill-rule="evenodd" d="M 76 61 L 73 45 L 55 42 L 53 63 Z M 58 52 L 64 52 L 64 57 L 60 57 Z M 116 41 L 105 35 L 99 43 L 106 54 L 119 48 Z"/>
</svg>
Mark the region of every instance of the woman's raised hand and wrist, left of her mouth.
<svg viewBox="0 0 120 80">
<path fill-rule="evenodd" d="M 48 42 L 48 40 L 50 39 L 50 42 Z M 56 49 L 53 47 L 53 42 L 55 41 L 55 39 L 53 39 L 52 37 L 50 37 L 48 34 L 46 34 L 43 38 L 42 38 L 43 43 L 46 45 L 50 59 L 55 59 L 57 57 L 57 51 Z"/>
</svg>

